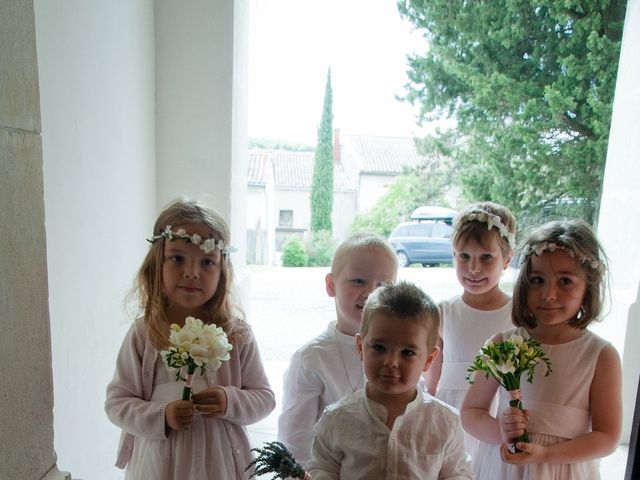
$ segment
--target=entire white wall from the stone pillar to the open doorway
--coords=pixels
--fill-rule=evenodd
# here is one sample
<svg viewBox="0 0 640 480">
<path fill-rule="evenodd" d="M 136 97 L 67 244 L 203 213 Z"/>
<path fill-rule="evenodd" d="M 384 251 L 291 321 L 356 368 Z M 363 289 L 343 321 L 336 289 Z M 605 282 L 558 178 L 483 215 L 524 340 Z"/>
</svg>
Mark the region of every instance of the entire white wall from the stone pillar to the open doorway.
<svg viewBox="0 0 640 480">
<path fill-rule="evenodd" d="M 247 291 L 248 11 L 244 0 L 36 0 L 35 10 L 55 447 L 74 478 L 111 479 L 119 430 L 105 387 L 158 210 L 207 194 L 230 220 Z"/>
</svg>

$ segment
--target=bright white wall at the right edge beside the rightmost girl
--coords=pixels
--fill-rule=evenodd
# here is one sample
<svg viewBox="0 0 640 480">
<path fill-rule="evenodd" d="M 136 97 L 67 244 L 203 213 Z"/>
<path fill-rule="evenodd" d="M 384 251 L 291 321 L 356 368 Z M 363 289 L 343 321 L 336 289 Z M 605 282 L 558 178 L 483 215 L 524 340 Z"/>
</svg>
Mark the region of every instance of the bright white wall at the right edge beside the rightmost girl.
<svg viewBox="0 0 640 480">
<path fill-rule="evenodd" d="M 611 312 L 594 330 L 623 355 L 623 442 L 640 375 L 640 0 L 629 0 L 613 104 L 598 234 L 609 256 Z"/>
</svg>

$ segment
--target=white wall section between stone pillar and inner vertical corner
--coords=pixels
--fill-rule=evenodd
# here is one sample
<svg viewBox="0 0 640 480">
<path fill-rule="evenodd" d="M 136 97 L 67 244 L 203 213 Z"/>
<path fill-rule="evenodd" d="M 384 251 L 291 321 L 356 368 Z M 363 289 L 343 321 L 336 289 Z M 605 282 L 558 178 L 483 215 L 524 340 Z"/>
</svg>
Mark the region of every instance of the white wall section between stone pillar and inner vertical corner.
<svg viewBox="0 0 640 480">
<path fill-rule="evenodd" d="M 156 214 L 153 2 L 36 0 L 35 11 L 55 448 L 74 478 L 112 478 L 105 387 Z"/>
</svg>

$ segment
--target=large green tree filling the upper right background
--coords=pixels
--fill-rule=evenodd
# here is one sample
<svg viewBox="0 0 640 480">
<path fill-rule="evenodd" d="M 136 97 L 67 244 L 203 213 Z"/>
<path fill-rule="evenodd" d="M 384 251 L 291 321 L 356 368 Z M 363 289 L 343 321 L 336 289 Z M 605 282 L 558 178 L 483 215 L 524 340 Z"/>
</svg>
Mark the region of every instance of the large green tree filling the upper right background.
<svg viewBox="0 0 640 480">
<path fill-rule="evenodd" d="M 600 200 L 624 1 L 401 0 L 427 51 L 409 57 L 406 99 L 443 116 L 468 200 L 539 221 Z"/>
</svg>

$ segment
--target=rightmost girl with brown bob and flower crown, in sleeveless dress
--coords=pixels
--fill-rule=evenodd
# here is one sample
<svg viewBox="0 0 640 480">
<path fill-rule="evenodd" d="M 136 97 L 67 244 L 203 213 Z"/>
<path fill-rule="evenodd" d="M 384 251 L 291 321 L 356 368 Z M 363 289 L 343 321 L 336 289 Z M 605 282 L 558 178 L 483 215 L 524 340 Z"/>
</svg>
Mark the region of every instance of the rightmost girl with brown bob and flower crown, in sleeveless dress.
<svg viewBox="0 0 640 480">
<path fill-rule="evenodd" d="M 587 330 L 600 319 L 605 256 L 580 220 L 530 230 L 513 294 L 513 323 L 494 341 L 516 334 L 541 344 L 553 371 L 536 369 L 515 396 L 526 410 L 509 407 L 500 389 L 497 416 L 489 411 L 499 385 L 476 372 L 462 405 L 465 430 L 481 440 L 474 462 L 479 480 L 599 479 L 598 460 L 613 452 L 622 424 L 621 367 L 615 348 Z M 528 432 L 529 442 L 512 439 Z"/>
</svg>

